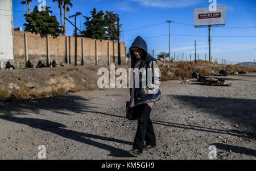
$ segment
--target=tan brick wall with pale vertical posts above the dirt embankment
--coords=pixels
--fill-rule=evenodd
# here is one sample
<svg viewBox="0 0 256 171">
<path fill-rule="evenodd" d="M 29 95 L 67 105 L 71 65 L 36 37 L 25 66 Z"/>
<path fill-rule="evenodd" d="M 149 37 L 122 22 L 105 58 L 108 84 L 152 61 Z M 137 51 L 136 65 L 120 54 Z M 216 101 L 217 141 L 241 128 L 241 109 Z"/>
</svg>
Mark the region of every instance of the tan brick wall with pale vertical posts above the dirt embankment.
<svg viewBox="0 0 256 171">
<path fill-rule="evenodd" d="M 27 37 L 27 58 L 34 66 L 39 61 L 47 64 L 47 38 L 31 32 L 14 31 L 14 66 L 24 68 L 26 63 L 25 36 Z M 98 65 L 108 65 L 108 42 L 110 63 L 118 63 L 117 41 L 97 40 L 86 37 L 77 37 L 77 65 L 82 65 L 82 40 L 84 65 L 96 65 L 96 42 Z M 70 63 L 75 65 L 75 37 L 59 36 L 53 38 L 48 36 L 49 61 L 53 59 L 58 63 Z M 114 46 L 114 47 L 113 47 Z M 121 64 L 126 63 L 125 42 L 120 42 Z"/>
</svg>

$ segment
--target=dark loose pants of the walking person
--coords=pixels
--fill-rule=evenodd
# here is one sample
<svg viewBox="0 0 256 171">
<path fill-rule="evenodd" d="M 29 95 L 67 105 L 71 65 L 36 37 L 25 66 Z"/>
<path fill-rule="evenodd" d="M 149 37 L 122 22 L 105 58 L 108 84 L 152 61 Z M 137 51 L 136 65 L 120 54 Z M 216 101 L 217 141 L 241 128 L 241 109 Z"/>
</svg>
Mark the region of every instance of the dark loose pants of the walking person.
<svg viewBox="0 0 256 171">
<path fill-rule="evenodd" d="M 155 132 L 150 119 L 151 108 L 147 104 L 142 104 L 134 107 L 138 114 L 138 127 L 134 138 L 133 148 L 142 152 L 144 141 L 147 145 L 156 146 Z"/>
</svg>

